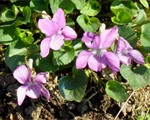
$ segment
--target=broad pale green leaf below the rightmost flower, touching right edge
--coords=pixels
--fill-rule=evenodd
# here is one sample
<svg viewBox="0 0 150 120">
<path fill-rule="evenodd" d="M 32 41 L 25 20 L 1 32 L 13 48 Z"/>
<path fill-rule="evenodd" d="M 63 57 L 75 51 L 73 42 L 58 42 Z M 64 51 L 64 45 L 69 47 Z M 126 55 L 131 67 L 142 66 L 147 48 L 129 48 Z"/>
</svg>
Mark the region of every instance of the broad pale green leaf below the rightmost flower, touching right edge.
<svg viewBox="0 0 150 120">
<path fill-rule="evenodd" d="M 120 73 L 134 90 L 150 83 L 150 71 L 143 65 L 132 71 L 131 65 L 127 67 L 123 64 L 121 65 Z"/>
</svg>

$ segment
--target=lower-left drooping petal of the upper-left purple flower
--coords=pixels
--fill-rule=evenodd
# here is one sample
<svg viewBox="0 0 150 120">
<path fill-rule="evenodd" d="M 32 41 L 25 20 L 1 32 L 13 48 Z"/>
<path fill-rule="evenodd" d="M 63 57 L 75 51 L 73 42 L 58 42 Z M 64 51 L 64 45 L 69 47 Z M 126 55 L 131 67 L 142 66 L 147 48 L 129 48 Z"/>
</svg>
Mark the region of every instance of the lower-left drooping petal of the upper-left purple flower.
<svg viewBox="0 0 150 120">
<path fill-rule="evenodd" d="M 50 41 L 51 41 L 51 38 L 50 37 L 47 37 L 47 38 L 44 38 L 40 44 L 40 49 L 41 49 L 41 55 L 42 55 L 42 58 L 45 58 L 48 56 L 49 54 L 49 51 L 50 51 Z"/>
</svg>

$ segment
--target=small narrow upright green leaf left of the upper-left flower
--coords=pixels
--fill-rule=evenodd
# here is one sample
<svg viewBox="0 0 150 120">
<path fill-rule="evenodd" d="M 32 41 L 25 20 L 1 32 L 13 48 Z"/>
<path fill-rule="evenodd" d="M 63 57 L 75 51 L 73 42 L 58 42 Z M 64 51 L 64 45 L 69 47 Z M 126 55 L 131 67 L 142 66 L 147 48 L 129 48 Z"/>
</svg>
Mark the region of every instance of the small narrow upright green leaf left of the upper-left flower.
<svg viewBox="0 0 150 120">
<path fill-rule="evenodd" d="M 28 6 L 23 9 L 23 17 L 25 18 L 24 23 L 30 22 L 31 10 Z"/>
</svg>

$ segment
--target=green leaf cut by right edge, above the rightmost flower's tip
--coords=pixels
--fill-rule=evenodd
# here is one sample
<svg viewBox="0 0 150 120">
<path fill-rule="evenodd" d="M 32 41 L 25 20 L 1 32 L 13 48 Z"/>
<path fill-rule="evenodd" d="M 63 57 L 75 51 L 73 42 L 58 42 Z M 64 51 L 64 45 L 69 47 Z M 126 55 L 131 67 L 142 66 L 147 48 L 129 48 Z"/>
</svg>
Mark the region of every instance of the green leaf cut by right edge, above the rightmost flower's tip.
<svg viewBox="0 0 150 120">
<path fill-rule="evenodd" d="M 150 23 L 142 25 L 140 40 L 144 49 L 150 51 Z"/>
</svg>

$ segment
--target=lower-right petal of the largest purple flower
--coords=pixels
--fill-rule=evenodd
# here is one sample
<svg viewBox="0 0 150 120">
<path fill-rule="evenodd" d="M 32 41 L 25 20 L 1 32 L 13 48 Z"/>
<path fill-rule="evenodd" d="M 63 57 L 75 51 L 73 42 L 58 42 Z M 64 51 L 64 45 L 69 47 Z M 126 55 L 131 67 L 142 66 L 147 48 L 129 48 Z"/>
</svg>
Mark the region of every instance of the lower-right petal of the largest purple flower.
<svg viewBox="0 0 150 120">
<path fill-rule="evenodd" d="M 105 52 L 105 58 L 107 59 L 107 64 L 109 68 L 113 70 L 113 73 L 119 72 L 120 70 L 120 61 L 118 57 L 113 52 Z"/>
</svg>

